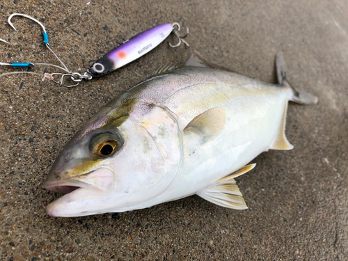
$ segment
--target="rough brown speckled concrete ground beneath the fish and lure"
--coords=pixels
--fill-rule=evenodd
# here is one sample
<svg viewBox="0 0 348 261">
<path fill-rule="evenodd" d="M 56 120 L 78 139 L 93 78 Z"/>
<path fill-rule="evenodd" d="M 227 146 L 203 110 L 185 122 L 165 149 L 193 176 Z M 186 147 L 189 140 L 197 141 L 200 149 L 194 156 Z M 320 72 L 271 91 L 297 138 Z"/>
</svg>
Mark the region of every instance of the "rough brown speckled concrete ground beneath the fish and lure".
<svg viewBox="0 0 348 261">
<path fill-rule="evenodd" d="M 11 45 L 0 43 L 0 61 L 57 64 L 40 27 L 15 18 L 13 31 L 11 13 L 40 19 L 52 48 L 77 72 L 166 22 L 189 26 L 191 47 L 171 49 L 169 38 L 77 88 L 0 77 L 1 260 L 347 260 L 347 1 L 1 0 L 0 38 Z M 292 85 L 319 97 L 316 106 L 289 106 L 294 150 L 262 153 L 252 161 L 256 168 L 237 178 L 249 209 L 191 196 L 120 214 L 47 216 L 45 205 L 58 195 L 42 182 L 77 129 L 112 97 L 164 63 L 182 65 L 193 50 L 268 82 L 275 82 L 274 55 L 282 50 Z"/>
</svg>

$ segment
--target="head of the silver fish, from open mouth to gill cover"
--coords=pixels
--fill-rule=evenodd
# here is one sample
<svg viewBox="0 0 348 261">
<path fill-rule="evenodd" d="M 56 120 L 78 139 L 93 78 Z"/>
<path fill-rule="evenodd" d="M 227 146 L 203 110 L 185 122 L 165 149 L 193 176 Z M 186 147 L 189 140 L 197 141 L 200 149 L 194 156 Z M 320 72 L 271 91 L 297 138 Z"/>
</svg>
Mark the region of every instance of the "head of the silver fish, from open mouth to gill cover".
<svg viewBox="0 0 348 261">
<path fill-rule="evenodd" d="M 124 212 L 148 205 L 173 181 L 182 137 L 168 109 L 140 104 L 102 110 L 56 159 L 45 189 L 65 193 L 46 207 L 50 216 Z"/>
</svg>

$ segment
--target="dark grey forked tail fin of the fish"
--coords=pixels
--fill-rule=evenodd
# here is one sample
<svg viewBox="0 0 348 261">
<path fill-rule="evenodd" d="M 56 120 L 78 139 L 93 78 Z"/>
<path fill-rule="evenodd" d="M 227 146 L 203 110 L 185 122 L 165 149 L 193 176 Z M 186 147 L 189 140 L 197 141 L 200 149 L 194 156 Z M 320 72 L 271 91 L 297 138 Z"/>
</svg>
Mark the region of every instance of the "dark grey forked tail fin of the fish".
<svg viewBox="0 0 348 261">
<path fill-rule="evenodd" d="M 297 102 L 299 104 L 316 104 L 318 102 L 318 98 L 315 95 L 311 95 L 310 93 L 306 93 L 303 90 L 298 90 L 291 86 L 287 80 L 287 70 L 283 52 L 277 52 L 276 54 L 276 71 L 278 84 L 292 88 L 293 96 L 290 99 L 292 102 Z"/>
</svg>

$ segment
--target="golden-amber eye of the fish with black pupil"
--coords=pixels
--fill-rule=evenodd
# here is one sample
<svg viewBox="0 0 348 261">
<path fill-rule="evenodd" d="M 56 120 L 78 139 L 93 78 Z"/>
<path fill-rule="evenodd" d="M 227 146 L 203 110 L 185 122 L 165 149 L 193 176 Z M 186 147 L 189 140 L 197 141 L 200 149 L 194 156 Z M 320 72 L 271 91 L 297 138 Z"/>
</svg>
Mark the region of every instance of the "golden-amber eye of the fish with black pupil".
<svg viewBox="0 0 348 261">
<path fill-rule="evenodd" d="M 119 147 L 118 138 L 109 132 L 95 136 L 90 142 L 90 152 L 97 159 L 113 155 Z"/>
</svg>

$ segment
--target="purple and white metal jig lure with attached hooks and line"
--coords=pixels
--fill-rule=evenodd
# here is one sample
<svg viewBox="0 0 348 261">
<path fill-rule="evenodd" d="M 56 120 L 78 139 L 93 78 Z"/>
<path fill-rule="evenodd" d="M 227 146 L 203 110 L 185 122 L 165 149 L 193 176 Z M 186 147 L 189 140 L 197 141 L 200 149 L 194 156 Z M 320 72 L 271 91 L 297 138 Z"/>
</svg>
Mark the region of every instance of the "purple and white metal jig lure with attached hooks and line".
<svg viewBox="0 0 348 261">
<path fill-rule="evenodd" d="M 54 51 L 49 47 L 49 40 L 48 40 L 48 35 L 46 32 L 45 26 L 43 26 L 43 24 L 41 24 L 41 22 L 39 22 L 37 19 L 30 17 L 29 15 L 23 15 L 19 13 L 10 15 L 10 17 L 8 17 L 8 24 L 10 24 L 10 26 L 15 31 L 17 31 L 17 29 L 15 29 L 15 26 L 13 26 L 11 19 L 12 17 L 16 15 L 31 19 L 42 27 L 42 30 L 43 30 L 42 36 L 44 38 L 43 42 L 45 46 L 47 47 L 47 49 L 49 49 L 50 52 L 52 52 L 52 54 L 54 54 L 54 56 L 56 56 L 58 61 L 63 65 L 63 68 L 61 66 L 52 65 L 49 63 L 0 63 L 0 65 L 10 65 L 12 67 L 19 67 L 19 68 L 30 68 L 35 65 L 53 66 L 55 68 L 63 70 L 65 73 L 51 73 L 51 74 L 45 73 L 43 74 L 42 81 L 47 78 L 54 81 L 54 83 L 59 84 L 60 86 L 65 86 L 68 88 L 78 86 L 79 82 L 82 81 L 83 79 L 90 80 L 95 77 L 102 77 L 126 65 L 127 63 L 131 63 L 132 61 L 140 58 L 144 54 L 147 54 L 152 49 L 157 47 L 171 33 L 174 33 L 174 35 L 179 40 L 177 44 L 175 45 L 172 45 L 171 43 L 169 43 L 171 47 L 173 48 L 178 47 L 181 44 L 181 42 L 184 42 L 184 44 L 189 47 L 189 44 L 185 40 L 183 40 L 189 34 L 189 29 L 187 27 L 185 27 L 186 33 L 181 36 L 179 34 L 179 31 L 180 31 L 179 23 L 174 22 L 173 24 L 161 24 L 159 26 L 153 27 L 152 29 L 148 29 L 147 31 L 143 31 L 142 33 L 135 35 L 133 38 L 130 38 L 129 40 L 126 40 L 121 45 L 111 50 L 111 52 L 105 54 L 100 59 L 98 59 L 95 63 L 93 63 L 93 65 L 90 68 L 88 68 L 88 70 L 84 74 L 80 74 L 79 72 L 72 72 L 68 70 L 68 68 L 65 66 L 63 61 L 61 61 L 61 59 L 58 58 L 58 56 L 54 53 Z M 7 42 L 6 40 L 0 39 L 0 41 L 6 42 L 9 44 L 9 42 Z M 1 74 L 0 76 L 4 76 L 8 74 L 16 74 L 16 73 L 37 74 L 42 76 L 42 74 L 38 74 L 35 72 L 9 72 L 5 74 Z M 65 77 L 70 77 L 70 79 L 74 81 L 76 84 L 66 85 Z"/>
</svg>

